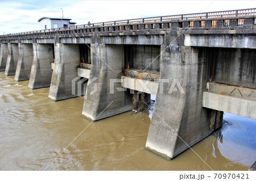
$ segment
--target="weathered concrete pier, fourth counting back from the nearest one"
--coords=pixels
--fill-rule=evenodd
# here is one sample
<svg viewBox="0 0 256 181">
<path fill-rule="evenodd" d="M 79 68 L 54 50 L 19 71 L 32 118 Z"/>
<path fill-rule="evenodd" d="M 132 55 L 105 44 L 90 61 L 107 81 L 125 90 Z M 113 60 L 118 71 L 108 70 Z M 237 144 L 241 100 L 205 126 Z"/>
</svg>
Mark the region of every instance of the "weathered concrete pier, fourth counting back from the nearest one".
<svg viewBox="0 0 256 181">
<path fill-rule="evenodd" d="M 34 43 L 28 87 L 38 89 L 50 86 L 52 78 L 51 62 L 53 62 L 53 45 Z"/>
</svg>

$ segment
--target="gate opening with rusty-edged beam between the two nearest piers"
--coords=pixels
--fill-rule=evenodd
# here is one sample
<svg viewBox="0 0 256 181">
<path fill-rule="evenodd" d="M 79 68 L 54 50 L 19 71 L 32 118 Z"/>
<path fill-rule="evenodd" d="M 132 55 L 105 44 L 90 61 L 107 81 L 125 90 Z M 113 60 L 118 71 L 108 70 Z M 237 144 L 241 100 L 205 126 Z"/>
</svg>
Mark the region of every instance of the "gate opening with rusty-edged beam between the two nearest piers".
<svg viewBox="0 0 256 181">
<path fill-rule="evenodd" d="M 134 112 L 152 110 L 160 78 L 159 45 L 124 45 L 122 87 L 133 93 Z M 152 106 L 152 107 L 150 107 Z"/>
</svg>

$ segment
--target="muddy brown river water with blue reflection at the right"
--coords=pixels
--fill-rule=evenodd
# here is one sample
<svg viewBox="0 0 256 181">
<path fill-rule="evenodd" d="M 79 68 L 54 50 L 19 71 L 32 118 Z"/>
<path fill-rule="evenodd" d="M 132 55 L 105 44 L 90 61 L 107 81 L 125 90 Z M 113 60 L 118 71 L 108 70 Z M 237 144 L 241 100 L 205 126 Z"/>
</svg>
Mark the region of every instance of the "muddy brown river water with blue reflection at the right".
<svg viewBox="0 0 256 181">
<path fill-rule="evenodd" d="M 52 102 L 49 88 L 27 85 L 0 72 L 0 170 L 248 170 L 256 160 L 252 119 L 225 113 L 222 129 L 192 146 L 199 156 L 189 149 L 167 161 L 144 149 L 148 113 L 90 124 L 83 98 Z"/>
</svg>

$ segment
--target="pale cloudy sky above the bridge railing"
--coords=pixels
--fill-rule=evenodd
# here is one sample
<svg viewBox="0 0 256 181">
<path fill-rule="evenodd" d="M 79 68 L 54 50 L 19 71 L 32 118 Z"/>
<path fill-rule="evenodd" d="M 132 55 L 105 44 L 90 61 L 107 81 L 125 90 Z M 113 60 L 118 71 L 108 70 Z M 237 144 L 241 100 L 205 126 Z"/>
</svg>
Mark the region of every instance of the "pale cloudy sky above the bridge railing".
<svg viewBox="0 0 256 181">
<path fill-rule="evenodd" d="M 40 30 L 44 16 L 71 18 L 76 25 L 112 20 L 250 9 L 256 1 L 69 1 L 0 0 L 0 35 Z"/>
</svg>

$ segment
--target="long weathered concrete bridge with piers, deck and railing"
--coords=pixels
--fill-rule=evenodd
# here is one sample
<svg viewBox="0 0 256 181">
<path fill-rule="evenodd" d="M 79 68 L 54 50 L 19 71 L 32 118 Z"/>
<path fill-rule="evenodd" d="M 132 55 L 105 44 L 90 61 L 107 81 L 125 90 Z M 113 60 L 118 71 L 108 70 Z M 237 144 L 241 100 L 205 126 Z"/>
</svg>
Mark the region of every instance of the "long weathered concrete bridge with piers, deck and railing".
<svg viewBox="0 0 256 181">
<path fill-rule="evenodd" d="M 52 100 L 85 95 L 82 116 L 92 121 L 156 95 L 146 149 L 171 159 L 220 128 L 223 111 L 256 119 L 255 15 L 204 12 L 1 35 L 0 70 L 31 89 L 50 87 Z"/>
</svg>

